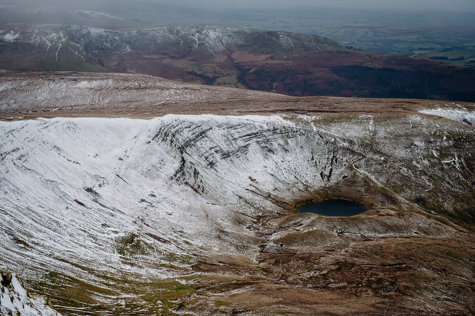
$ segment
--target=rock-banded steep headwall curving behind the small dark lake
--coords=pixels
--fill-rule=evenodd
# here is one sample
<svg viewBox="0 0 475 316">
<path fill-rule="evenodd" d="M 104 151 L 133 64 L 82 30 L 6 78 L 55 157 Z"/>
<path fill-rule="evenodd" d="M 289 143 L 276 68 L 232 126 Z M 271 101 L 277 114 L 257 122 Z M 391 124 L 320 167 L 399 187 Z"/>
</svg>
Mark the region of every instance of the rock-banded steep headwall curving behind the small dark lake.
<svg viewBox="0 0 475 316">
<path fill-rule="evenodd" d="M 299 205 L 298 199 L 325 197 L 395 207 L 401 203 L 396 191 L 432 212 L 472 216 L 469 203 L 456 193 L 473 192 L 469 126 L 452 130 L 446 125 L 439 134 L 434 129 L 441 123 L 416 115 L 300 118 L 296 124 L 282 120 L 257 127 L 230 119 L 210 124 L 199 117 L 171 120 L 153 139 L 168 143 L 182 157 L 176 181 L 232 201 L 241 212 L 252 205 L 246 215 L 252 216 L 257 205 L 285 213 Z M 189 136 L 182 142 L 183 134 Z M 458 154 L 467 149 L 467 154 Z M 233 179 L 226 180 L 230 174 Z M 246 185 L 236 199 L 234 186 L 242 183 Z M 473 223 L 465 215 L 462 222 Z"/>
</svg>

